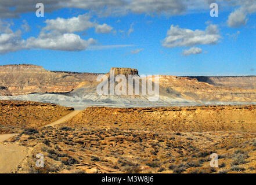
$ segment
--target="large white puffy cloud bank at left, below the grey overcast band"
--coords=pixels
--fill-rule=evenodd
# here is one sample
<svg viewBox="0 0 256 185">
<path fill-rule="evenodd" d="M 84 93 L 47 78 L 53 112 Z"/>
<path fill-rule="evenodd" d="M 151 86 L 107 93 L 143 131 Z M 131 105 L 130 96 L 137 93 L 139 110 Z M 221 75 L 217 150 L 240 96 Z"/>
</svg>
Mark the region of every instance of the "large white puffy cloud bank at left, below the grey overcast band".
<svg viewBox="0 0 256 185">
<path fill-rule="evenodd" d="M 89 38 L 84 40 L 74 32 L 86 31 L 95 27 L 97 33 L 109 33 L 113 29 L 107 24 L 98 24 L 90 21 L 87 14 L 72 18 L 56 18 L 46 20 L 46 26 L 41 29 L 38 37 L 34 36 L 27 40 L 21 39 L 22 32 L 13 32 L 10 23 L 0 21 L 0 54 L 23 49 L 48 49 L 62 51 L 81 51 L 91 45 L 95 45 L 96 40 Z M 27 21 L 23 21 L 21 28 L 24 31 L 30 29 Z"/>
</svg>

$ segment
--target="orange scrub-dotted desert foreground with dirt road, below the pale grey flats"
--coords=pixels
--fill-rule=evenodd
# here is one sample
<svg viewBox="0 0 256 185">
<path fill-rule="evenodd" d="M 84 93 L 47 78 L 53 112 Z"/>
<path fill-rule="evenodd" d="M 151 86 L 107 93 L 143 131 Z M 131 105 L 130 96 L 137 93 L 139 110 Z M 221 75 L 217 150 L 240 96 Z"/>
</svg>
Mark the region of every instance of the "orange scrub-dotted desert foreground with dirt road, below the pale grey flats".
<svg viewBox="0 0 256 185">
<path fill-rule="evenodd" d="M 255 105 L 74 111 L 0 103 L 2 173 L 256 172 Z M 218 167 L 210 166 L 212 153 Z"/>
</svg>

